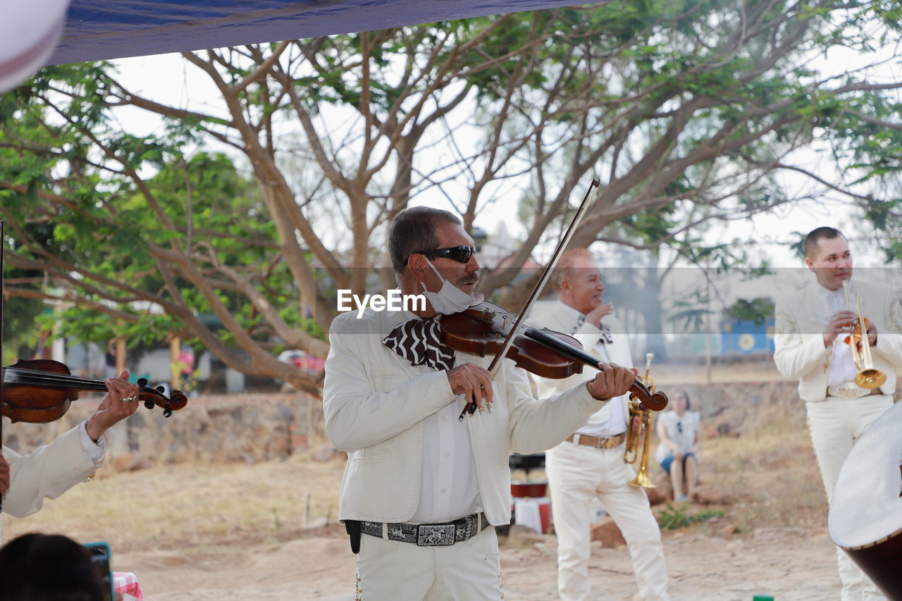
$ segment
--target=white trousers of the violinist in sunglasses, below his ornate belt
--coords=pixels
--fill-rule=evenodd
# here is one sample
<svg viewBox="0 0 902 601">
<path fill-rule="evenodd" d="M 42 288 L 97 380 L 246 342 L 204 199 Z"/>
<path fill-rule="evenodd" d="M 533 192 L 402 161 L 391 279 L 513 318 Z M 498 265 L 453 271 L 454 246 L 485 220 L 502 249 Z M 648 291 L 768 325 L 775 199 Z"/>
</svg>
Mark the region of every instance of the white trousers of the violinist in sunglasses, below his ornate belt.
<svg viewBox="0 0 902 601">
<path fill-rule="evenodd" d="M 358 601 L 499 601 L 501 553 L 489 526 L 469 541 L 418 547 L 360 536 Z"/>
</svg>

